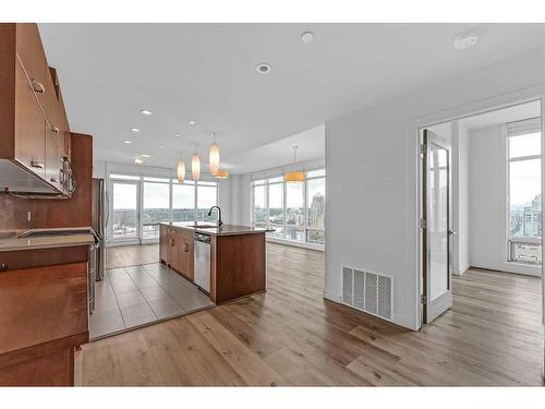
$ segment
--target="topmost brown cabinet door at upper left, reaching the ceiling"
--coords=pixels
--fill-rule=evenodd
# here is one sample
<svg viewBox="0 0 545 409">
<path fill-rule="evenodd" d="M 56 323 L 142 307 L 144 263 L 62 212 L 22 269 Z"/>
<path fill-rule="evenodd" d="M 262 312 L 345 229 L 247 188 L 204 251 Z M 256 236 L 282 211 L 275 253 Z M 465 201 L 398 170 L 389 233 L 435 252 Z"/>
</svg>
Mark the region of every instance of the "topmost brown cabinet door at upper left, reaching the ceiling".
<svg viewBox="0 0 545 409">
<path fill-rule="evenodd" d="M 16 52 L 28 75 L 31 86 L 36 91 L 38 100 L 45 106 L 47 60 L 38 26 L 35 23 L 16 25 Z"/>
</svg>

